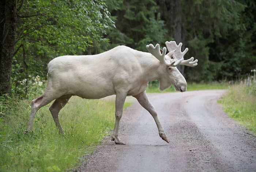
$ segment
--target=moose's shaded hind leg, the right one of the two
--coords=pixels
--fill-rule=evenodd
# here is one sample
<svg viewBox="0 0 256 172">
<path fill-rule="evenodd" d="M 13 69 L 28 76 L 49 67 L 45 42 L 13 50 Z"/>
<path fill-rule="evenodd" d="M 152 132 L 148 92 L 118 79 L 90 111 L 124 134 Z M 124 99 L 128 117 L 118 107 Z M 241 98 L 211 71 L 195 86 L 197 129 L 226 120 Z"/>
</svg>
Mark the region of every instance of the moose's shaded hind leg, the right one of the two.
<svg viewBox="0 0 256 172">
<path fill-rule="evenodd" d="M 68 103 L 68 100 L 70 99 L 71 96 L 72 95 L 61 96 L 58 99 L 56 99 L 53 102 L 53 104 L 49 107 L 49 110 L 52 113 L 54 123 L 56 124 L 56 127 L 59 129 L 59 132 L 61 134 L 64 134 L 64 131 L 60 125 L 59 112 Z"/>
</svg>

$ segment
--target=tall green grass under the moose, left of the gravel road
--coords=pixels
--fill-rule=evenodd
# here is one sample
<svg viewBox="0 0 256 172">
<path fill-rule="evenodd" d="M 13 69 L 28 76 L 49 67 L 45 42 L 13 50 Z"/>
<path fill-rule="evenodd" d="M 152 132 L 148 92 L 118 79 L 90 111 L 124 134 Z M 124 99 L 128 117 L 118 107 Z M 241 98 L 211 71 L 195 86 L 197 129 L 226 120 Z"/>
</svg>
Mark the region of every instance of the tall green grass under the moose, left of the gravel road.
<svg viewBox="0 0 256 172">
<path fill-rule="evenodd" d="M 32 98 L 31 98 L 32 99 Z M 30 100 L 31 100 L 30 99 Z M 30 100 L 12 101 L 0 118 L 0 171 L 55 172 L 79 164 L 114 128 L 114 102 L 72 97 L 60 112 L 65 136 L 59 135 L 49 105 L 37 112 L 34 132 L 23 134 Z M 127 107 L 129 103 L 125 103 Z"/>
</svg>

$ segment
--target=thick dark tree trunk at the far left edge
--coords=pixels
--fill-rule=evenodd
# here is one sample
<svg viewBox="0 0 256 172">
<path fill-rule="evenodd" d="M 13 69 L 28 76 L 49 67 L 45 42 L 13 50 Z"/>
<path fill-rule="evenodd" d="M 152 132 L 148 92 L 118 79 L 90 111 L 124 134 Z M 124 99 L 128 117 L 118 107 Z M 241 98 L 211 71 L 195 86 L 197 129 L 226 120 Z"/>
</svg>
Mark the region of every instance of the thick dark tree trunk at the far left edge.
<svg viewBox="0 0 256 172">
<path fill-rule="evenodd" d="M 3 8 L 1 1 L 1 10 Z M 8 93 L 11 89 L 11 69 L 12 57 L 14 53 L 16 36 L 16 0 L 6 0 L 4 6 L 3 30 L 1 30 L 1 49 L 0 49 L 0 94 Z M 1 11 L 1 15 L 2 15 Z M 2 24 L 1 24 L 2 25 Z"/>
</svg>

